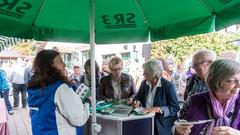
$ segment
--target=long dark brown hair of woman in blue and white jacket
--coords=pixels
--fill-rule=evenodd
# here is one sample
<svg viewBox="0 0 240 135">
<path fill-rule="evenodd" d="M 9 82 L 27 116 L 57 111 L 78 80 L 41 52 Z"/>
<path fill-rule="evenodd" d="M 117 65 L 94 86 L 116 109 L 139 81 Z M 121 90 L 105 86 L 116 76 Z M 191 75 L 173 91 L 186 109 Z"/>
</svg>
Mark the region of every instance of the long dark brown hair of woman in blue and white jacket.
<svg viewBox="0 0 240 135">
<path fill-rule="evenodd" d="M 34 75 L 28 82 L 28 87 L 44 88 L 58 80 L 70 84 L 71 80 L 60 69 L 53 66 L 53 60 L 60 53 L 55 50 L 42 50 L 38 52 L 33 62 Z"/>
</svg>

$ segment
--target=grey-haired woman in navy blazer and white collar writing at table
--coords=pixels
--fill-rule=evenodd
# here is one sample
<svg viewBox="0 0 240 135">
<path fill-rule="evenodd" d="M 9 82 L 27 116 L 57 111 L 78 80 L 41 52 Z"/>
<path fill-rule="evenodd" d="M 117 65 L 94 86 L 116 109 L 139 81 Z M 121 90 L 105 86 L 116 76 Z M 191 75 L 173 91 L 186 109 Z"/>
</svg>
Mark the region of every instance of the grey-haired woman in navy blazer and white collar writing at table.
<svg viewBox="0 0 240 135">
<path fill-rule="evenodd" d="M 178 98 L 174 85 L 164 79 L 162 63 L 151 59 L 143 64 L 140 89 L 134 99 L 133 107 L 144 107 L 144 112 L 155 113 L 155 135 L 171 135 L 174 121 L 179 111 Z"/>
</svg>

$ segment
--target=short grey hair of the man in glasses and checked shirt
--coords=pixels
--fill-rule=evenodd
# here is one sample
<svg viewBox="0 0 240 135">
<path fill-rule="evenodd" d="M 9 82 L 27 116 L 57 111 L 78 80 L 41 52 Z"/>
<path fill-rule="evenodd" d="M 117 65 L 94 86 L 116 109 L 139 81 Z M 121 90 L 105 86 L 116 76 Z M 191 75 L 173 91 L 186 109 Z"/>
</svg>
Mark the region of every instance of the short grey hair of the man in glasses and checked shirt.
<svg viewBox="0 0 240 135">
<path fill-rule="evenodd" d="M 217 59 L 217 55 L 214 51 L 208 50 L 208 49 L 201 49 L 196 51 L 192 58 L 193 60 L 195 60 L 196 58 L 200 58 L 200 57 L 207 57 L 209 58 L 211 61 L 215 61 Z"/>
</svg>

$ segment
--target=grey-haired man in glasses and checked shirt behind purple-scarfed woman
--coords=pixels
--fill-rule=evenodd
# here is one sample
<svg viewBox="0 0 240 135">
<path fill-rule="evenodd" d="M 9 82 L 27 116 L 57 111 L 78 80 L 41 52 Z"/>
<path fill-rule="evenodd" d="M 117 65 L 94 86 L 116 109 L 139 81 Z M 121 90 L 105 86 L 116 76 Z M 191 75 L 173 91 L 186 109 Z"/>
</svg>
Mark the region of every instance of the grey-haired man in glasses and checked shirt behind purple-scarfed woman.
<svg viewBox="0 0 240 135">
<path fill-rule="evenodd" d="M 195 70 L 195 73 L 187 79 L 184 100 L 193 94 L 208 90 L 205 83 L 205 74 L 208 65 L 215 61 L 216 57 L 215 52 L 207 49 L 202 49 L 194 53 L 192 57 L 192 68 Z"/>
</svg>

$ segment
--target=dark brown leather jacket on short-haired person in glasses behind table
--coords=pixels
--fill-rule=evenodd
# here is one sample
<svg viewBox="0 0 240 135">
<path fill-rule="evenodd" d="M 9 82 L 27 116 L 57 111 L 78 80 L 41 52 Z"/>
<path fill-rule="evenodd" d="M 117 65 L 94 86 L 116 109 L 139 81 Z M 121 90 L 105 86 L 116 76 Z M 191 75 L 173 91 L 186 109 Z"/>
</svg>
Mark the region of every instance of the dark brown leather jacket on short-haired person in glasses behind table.
<svg viewBox="0 0 240 135">
<path fill-rule="evenodd" d="M 112 87 L 112 75 L 104 76 L 100 81 L 101 99 L 114 99 L 114 90 Z M 134 98 L 136 95 L 136 87 L 131 75 L 121 73 L 121 99 Z"/>
</svg>

